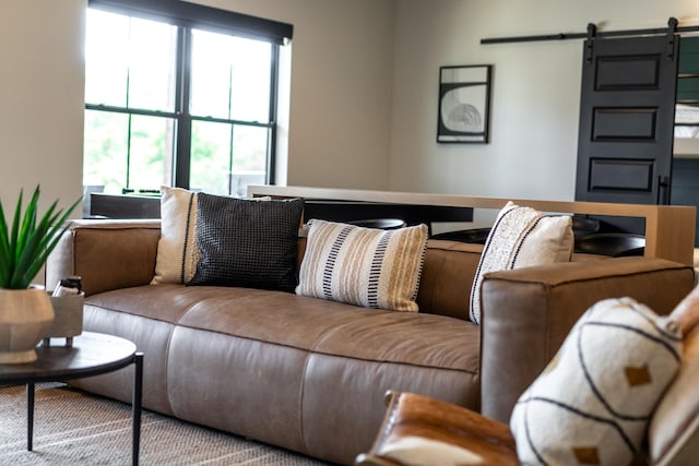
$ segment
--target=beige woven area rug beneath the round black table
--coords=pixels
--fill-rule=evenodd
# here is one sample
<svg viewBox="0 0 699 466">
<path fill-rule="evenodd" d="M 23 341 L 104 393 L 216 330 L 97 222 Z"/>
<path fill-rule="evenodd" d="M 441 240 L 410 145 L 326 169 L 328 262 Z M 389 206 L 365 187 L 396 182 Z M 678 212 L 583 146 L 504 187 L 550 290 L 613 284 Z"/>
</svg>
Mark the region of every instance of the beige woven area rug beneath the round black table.
<svg viewBox="0 0 699 466">
<path fill-rule="evenodd" d="M 0 464 L 130 465 L 131 406 L 37 384 L 34 451 L 26 450 L 26 391 L 0 387 Z M 321 466 L 327 463 L 143 410 L 142 465 Z"/>
</svg>

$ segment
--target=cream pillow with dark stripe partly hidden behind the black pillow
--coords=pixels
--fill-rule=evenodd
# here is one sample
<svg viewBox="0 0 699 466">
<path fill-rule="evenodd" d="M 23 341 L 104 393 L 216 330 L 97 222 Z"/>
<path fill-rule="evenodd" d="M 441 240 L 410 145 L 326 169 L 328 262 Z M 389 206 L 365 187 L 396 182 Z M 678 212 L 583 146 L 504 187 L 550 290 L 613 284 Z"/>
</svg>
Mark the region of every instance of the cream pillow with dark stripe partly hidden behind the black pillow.
<svg viewBox="0 0 699 466">
<path fill-rule="evenodd" d="M 196 232 L 197 193 L 168 187 L 161 188 L 161 239 L 151 285 L 187 283 L 197 272 L 200 256 Z"/>
</svg>

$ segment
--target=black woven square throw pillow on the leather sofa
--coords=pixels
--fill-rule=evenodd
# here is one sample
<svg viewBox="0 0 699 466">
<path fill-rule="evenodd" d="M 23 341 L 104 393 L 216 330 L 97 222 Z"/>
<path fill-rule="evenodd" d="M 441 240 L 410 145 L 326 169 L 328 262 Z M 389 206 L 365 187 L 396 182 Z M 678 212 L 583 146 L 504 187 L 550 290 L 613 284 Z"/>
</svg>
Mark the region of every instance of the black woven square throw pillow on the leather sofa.
<svg viewBox="0 0 699 466">
<path fill-rule="evenodd" d="M 294 291 L 304 200 L 252 201 L 200 193 L 197 202 L 201 259 L 187 285 Z"/>
</svg>

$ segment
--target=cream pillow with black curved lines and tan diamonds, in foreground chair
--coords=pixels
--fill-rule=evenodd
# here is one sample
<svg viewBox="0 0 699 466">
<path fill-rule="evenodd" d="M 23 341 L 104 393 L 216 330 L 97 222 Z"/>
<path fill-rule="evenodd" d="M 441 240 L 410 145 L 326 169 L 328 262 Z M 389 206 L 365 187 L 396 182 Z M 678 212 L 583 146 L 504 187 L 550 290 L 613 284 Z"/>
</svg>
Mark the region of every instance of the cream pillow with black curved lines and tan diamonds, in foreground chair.
<svg viewBox="0 0 699 466">
<path fill-rule="evenodd" d="M 591 307 L 514 406 L 510 429 L 519 459 L 630 464 L 680 351 L 675 322 L 633 299 Z"/>
</svg>

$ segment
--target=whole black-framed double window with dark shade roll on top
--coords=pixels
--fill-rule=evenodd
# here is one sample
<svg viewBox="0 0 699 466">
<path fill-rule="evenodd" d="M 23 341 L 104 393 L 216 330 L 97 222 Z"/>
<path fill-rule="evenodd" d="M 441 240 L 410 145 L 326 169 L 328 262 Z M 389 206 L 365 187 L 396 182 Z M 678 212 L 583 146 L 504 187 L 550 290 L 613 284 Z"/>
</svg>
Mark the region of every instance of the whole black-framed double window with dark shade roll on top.
<svg viewBox="0 0 699 466">
<path fill-rule="evenodd" d="M 279 48 L 292 26 L 164 5 L 88 2 L 83 183 L 245 195 L 272 182 Z"/>
</svg>

